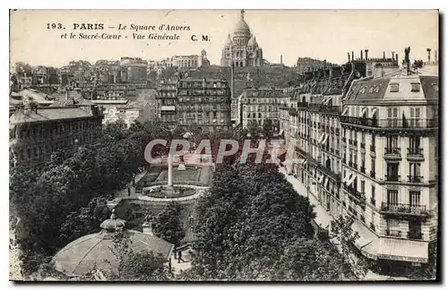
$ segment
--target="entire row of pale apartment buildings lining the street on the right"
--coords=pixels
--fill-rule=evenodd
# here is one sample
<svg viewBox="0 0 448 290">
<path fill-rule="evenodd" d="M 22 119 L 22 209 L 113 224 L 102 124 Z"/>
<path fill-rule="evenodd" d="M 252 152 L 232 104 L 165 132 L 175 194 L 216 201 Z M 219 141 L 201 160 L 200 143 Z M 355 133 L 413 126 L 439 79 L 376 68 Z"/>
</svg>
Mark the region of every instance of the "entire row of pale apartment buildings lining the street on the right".
<svg viewBox="0 0 448 290">
<path fill-rule="evenodd" d="M 355 219 L 359 252 L 416 265 L 436 240 L 438 74 L 406 59 L 307 72 L 279 116 L 289 173 L 332 217 Z"/>
</svg>

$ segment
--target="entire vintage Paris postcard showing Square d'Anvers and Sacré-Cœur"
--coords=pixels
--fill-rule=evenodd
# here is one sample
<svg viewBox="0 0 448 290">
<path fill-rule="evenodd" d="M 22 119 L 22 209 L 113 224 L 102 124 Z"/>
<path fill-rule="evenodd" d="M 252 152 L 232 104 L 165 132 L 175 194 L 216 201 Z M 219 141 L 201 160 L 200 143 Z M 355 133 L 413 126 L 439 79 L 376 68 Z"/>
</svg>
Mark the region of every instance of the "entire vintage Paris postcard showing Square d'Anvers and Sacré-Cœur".
<svg viewBox="0 0 448 290">
<path fill-rule="evenodd" d="M 436 10 L 11 10 L 10 279 L 437 277 Z"/>
</svg>

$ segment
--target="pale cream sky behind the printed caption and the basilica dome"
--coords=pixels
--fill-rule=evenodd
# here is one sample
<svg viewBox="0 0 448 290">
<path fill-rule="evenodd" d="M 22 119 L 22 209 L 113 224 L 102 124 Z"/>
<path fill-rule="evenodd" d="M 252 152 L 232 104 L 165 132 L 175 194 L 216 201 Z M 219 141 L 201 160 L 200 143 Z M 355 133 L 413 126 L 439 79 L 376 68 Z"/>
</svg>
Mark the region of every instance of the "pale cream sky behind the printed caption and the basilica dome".
<svg viewBox="0 0 448 290">
<path fill-rule="evenodd" d="M 200 55 L 205 49 L 211 64 L 220 64 L 221 49 L 239 19 L 239 10 L 19 10 L 10 17 L 10 60 L 11 64 L 22 61 L 60 67 L 72 60 L 94 63 L 122 56 L 161 60 Z M 411 60 L 426 61 L 426 48 L 433 49 L 432 59 L 438 49 L 436 10 L 246 10 L 245 20 L 270 63 L 280 63 L 282 55 L 286 65 L 306 56 L 342 64 L 348 60 L 347 52 L 354 51 L 359 57 L 364 49 L 369 57 L 383 57 L 383 51 L 391 57 L 395 51 L 401 61 L 405 47 L 411 47 Z M 47 29 L 48 23 L 61 23 L 65 29 Z M 103 23 L 105 29 L 73 30 L 74 23 Z M 119 24 L 127 30 L 117 30 Z M 177 33 L 179 40 L 133 39 L 131 24 L 189 26 L 190 30 L 143 31 L 145 37 L 151 32 Z M 76 38 L 61 38 L 70 32 Z M 122 37 L 77 39 L 79 33 L 97 32 Z M 199 41 L 192 41 L 192 35 Z M 201 41 L 202 35 L 209 41 Z"/>
</svg>

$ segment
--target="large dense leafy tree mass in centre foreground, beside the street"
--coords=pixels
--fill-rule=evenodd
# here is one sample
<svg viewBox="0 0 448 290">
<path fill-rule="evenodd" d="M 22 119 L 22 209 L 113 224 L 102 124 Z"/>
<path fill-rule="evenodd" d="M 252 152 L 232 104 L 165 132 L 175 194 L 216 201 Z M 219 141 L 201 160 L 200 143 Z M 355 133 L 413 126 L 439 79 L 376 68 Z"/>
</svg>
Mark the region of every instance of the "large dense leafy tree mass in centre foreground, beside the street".
<svg viewBox="0 0 448 290">
<path fill-rule="evenodd" d="M 314 234 L 308 200 L 273 165 L 220 166 L 197 217 L 193 271 L 206 279 L 237 279 L 254 260 L 279 260 L 291 238 Z"/>
</svg>

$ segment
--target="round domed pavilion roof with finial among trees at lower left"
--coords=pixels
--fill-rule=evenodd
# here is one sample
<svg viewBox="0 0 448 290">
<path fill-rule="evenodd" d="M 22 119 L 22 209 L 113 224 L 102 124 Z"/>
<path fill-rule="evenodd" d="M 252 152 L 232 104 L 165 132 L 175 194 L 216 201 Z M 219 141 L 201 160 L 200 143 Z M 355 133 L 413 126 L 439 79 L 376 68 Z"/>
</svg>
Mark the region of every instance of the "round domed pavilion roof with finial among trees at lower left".
<svg viewBox="0 0 448 290">
<path fill-rule="evenodd" d="M 129 247 L 134 252 L 154 252 L 166 260 L 174 245 L 151 234 L 126 230 L 125 220 L 112 216 L 101 224 L 102 230 L 97 234 L 84 235 L 67 244 L 53 257 L 55 268 L 68 276 L 80 276 L 90 273 L 94 267 L 102 273 L 116 273 L 118 260 L 112 252 L 113 238 L 118 231 L 129 235 Z"/>
</svg>

